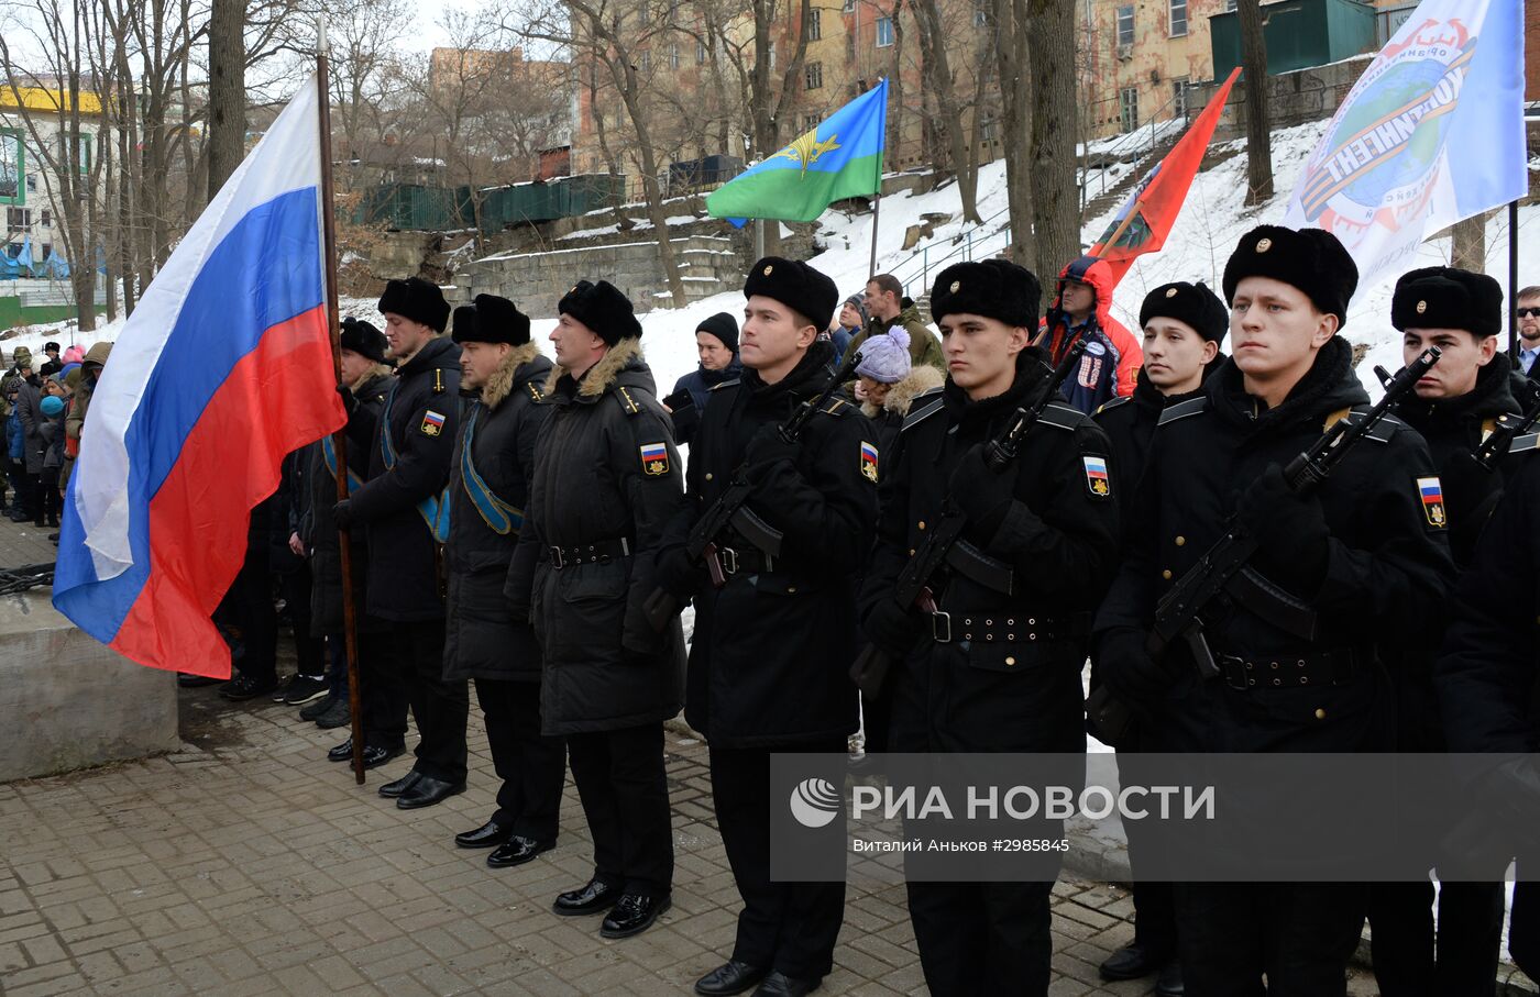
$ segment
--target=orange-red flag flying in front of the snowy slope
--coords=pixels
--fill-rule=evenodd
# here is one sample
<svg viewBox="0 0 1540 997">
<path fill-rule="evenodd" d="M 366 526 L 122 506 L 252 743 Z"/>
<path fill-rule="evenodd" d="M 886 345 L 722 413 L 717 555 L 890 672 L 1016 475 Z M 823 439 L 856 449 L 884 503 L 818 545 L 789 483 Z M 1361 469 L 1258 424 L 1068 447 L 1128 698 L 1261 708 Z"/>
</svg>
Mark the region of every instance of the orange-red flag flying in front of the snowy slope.
<svg viewBox="0 0 1540 997">
<path fill-rule="evenodd" d="M 1240 72 L 1238 66 L 1230 71 L 1230 78 L 1224 80 L 1224 86 L 1192 122 L 1187 134 L 1140 180 L 1133 194 L 1112 217 L 1107 231 L 1090 248 L 1089 255 L 1107 262 L 1113 286 L 1129 272 L 1135 257 L 1155 252 L 1166 245 L 1166 235 L 1170 234 L 1170 226 L 1177 223 L 1181 205 L 1187 200 L 1187 189 L 1198 174 L 1198 163 L 1209 149 L 1209 138 L 1214 137 L 1214 128 L 1220 123 L 1224 102 Z"/>
</svg>

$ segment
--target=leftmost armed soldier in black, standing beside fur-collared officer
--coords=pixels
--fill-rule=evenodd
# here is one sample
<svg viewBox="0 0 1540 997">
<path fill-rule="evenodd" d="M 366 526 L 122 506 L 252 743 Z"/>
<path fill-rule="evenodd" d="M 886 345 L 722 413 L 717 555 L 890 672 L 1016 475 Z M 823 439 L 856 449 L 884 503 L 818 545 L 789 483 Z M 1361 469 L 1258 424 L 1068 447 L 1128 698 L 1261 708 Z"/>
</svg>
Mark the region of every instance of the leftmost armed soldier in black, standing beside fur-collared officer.
<svg viewBox="0 0 1540 997">
<path fill-rule="evenodd" d="M 711 746 L 711 797 L 744 900 L 732 959 L 698 994 L 807 994 L 833 968 L 844 883 L 770 882 L 770 754 L 844 752 L 858 723 L 849 679 L 856 577 L 876 519 L 876 434 L 833 398 L 795 443 L 776 429 L 833 377 L 819 338 L 839 291 L 812 266 L 765 257 L 744 283 L 744 372 L 711 392 L 691 443 L 687 508 L 675 519 L 662 582 L 695 594 L 685 719 Z M 721 537 L 727 585 L 690 565 L 684 542 L 742 474 L 747 508 L 784 534 L 779 555 Z M 762 980 L 762 982 L 761 982 Z"/>
</svg>

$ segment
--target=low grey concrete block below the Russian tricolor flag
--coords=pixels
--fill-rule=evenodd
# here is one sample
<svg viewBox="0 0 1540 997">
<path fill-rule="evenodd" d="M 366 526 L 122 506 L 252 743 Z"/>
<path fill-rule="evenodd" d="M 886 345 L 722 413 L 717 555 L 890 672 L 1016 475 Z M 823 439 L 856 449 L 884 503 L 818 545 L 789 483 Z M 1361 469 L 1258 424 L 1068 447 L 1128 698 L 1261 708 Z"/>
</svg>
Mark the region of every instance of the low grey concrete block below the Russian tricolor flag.
<svg viewBox="0 0 1540 997">
<path fill-rule="evenodd" d="M 0 782 L 174 751 L 176 675 L 108 651 L 48 592 L 0 597 Z"/>
</svg>

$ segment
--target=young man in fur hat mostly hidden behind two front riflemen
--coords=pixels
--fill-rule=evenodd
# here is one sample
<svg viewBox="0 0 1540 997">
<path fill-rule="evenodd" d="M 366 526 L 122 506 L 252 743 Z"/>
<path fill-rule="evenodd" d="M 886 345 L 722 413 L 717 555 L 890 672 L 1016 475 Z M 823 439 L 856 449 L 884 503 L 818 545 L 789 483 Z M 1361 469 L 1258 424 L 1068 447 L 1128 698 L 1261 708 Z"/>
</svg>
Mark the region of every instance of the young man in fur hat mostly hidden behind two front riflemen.
<svg viewBox="0 0 1540 997">
<path fill-rule="evenodd" d="M 1177 282 L 1144 295 L 1140 328 L 1144 331 L 1144 365 L 1133 394 L 1107 402 L 1093 415 L 1112 440 L 1113 465 L 1124 482 L 1137 482 L 1143 474 L 1155 425 L 1166 406 L 1200 397 L 1204 380 L 1223 363 L 1220 343 L 1230 328 L 1230 311 L 1207 285 Z M 1129 519 L 1127 503 L 1123 505 L 1123 519 Z M 1135 729 L 1118 745 L 1120 771 L 1129 775 L 1129 782 L 1138 782 L 1129 772 L 1137 771 L 1137 760 L 1123 755 L 1137 751 Z M 1138 866 L 1143 826 L 1137 820 L 1124 825 L 1129 834 L 1129 865 L 1133 868 Z M 1170 883 L 1137 880 L 1135 872 L 1133 942 L 1101 963 L 1101 975 L 1106 980 L 1137 980 L 1160 972 L 1155 992 L 1160 997 L 1177 997 L 1183 986 Z"/>
</svg>

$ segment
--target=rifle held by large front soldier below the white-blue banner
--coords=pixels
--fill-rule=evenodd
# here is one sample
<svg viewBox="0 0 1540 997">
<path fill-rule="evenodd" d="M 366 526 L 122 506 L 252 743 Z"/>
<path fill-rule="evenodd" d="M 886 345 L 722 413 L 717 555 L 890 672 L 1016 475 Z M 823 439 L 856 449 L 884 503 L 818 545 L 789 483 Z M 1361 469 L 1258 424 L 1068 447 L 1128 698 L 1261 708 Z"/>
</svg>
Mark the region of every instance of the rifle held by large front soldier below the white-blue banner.
<svg viewBox="0 0 1540 997">
<path fill-rule="evenodd" d="M 1417 360 L 1401 368 L 1394 377 L 1381 372 L 1384 397 L 1363 418 L 1340 418 L 1318 438 L 1311 449 L 1289 462 L 1283 480 L 1297 494 L 1314 491 L 1331 477 L 1348 451 L 1368 435 L 1391 408 L 1417 388 L 1417 382 L 1438 363 L 1441 351 L 1431 346 Z M 1178 640 L 1186 642 L 1192 660 L 1203 679 L 1217 679 L 1220 666 L 1214 660 L 1209 639 L 1203 629 L 1203 612 L 1220 597 L 1224 597 L 1301 640 L 1315 639 L 1315 611 L 1250 568 L 1258 542 L 1232 514 L 1224 535 L 1204 551 L 1198 563 L 1161 597 L 1155 606 L 1155 625 L 1150 628 L 1144 651 L 1160 660 L 1166 649 Z M 1098 686 L 1086 700 L 1086 717 L 1093 732 L 1107 743 L 1123 739 L 1132 714 L 1126 703 L 1118 702 Z"/>
</svg>

